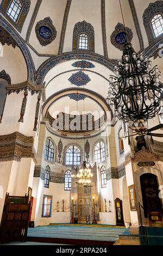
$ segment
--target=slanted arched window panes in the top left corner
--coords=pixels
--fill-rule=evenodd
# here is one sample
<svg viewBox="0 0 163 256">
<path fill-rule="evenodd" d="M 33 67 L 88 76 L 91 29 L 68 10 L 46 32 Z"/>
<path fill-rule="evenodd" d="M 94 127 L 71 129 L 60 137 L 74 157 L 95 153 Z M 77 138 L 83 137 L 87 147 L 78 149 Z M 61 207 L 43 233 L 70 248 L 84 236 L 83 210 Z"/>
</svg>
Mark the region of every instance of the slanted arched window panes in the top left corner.
<svg viewBox="0 0 163 256">
<path fill-rule="evenodd" d="M 22 2 L 20 0 L 12 0 L 9 6 L 9 9 L 7 11 L 7 14 L 9 17 L 16 22 L 18 19 L 18 16 L 20 15 L 22 10 Z"/>
</svg>

